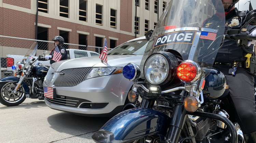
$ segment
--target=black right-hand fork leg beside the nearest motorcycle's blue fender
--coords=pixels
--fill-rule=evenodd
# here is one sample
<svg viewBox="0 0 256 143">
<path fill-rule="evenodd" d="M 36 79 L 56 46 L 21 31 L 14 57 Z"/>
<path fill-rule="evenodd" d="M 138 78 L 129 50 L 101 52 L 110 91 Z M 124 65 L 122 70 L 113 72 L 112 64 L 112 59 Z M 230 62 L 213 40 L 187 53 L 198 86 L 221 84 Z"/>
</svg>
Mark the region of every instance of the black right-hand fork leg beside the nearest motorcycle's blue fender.
<svg viewBox="0 0 256 143">
<path fill-rule="evenodd" d="M 181 134 L 181 130 L 185 124 L 187 117 L 187 111 L 183 105 L 176 105 L 173 109 L 170 128 L 167 133 L 165 143 L 177 143 Z"/>
</svg>

